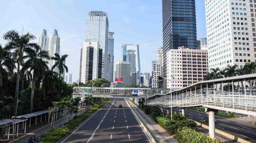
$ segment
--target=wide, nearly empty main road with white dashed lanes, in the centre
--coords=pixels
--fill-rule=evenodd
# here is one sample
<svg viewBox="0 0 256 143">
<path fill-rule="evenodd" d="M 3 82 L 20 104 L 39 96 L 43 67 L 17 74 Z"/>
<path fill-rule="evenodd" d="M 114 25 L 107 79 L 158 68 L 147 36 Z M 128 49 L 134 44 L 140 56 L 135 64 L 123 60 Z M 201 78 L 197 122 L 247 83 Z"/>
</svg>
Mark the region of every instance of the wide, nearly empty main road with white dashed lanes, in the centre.
<svg viewBox="0 0 256 143">
<path fill-rule="evenodd" d="M 119 107 L 119 105 L 123 107 Z M 110 100 L 63 143 L 149 143 L 124 98 Z"/>
</svg>

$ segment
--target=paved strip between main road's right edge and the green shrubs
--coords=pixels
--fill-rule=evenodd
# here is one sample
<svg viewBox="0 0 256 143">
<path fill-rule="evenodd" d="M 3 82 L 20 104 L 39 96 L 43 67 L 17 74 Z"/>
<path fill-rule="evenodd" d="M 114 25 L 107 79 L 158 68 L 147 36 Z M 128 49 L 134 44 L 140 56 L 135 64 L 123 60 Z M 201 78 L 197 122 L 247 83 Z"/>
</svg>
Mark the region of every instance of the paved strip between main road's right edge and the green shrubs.
<svg viewBox="0 0 256 143">
<path fill-rule="evenodd" d="M 139 116 L 143 124 L 150 131 L 151 135 L 154 137 L 156 142 L 158 143 L 178 143 L 178 141 L 173 138 L 173 136 L 169 135 L 164 128 L 162 128 L 156 121 L 151 119 L 146 115 L 141 109 L 137 108 L 137 106 L 131 101 L 127 100 L 129 104 L 132 106 L 133 110 Z"/>
</svg>

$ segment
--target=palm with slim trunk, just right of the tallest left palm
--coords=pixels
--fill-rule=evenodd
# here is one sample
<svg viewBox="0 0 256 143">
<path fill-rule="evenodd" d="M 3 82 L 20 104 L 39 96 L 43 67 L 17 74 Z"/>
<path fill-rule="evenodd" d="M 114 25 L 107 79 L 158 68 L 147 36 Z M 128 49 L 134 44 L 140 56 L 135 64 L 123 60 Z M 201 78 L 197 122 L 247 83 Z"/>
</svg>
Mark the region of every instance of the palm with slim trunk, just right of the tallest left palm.
<svg viewBox="0 0 256 143">
<path fill-rule="evenodd" d="M 27 57 L 29 58 L 25 63 L 24 67 L 30 67 L 31 70 L 33 70 L 33 78 L 32 78 L 32 87 L 31 87 L 31 106 L 30 110 L 32 112 L 33 110 L 33 104 L 34 104 L 34 92 L 35 92 L 35 85 L 37 78 L 44 73 L 44 71 L 48 70 L 48 66 L 45 60 L 49 60 L 49 54 L 47 51 L 41 51 L 41 48 L 30 50 L 27 54 Z"/>
</svg>

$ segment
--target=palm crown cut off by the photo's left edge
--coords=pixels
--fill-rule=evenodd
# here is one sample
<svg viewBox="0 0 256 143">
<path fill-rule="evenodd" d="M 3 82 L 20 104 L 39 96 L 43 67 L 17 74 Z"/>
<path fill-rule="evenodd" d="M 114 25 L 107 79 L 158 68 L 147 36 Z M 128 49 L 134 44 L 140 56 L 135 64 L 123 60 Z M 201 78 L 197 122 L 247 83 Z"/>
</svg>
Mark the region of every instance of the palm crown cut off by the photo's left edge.
<svg viewBox="0 0 256 143">
<path fill-rule="evenodd" d="M 10 51 L 0 45 L 0 86 L 8 78 L 8 73 L 12 75 L 15 69 L 15 61 L 10 57 Z"/>
</svg>

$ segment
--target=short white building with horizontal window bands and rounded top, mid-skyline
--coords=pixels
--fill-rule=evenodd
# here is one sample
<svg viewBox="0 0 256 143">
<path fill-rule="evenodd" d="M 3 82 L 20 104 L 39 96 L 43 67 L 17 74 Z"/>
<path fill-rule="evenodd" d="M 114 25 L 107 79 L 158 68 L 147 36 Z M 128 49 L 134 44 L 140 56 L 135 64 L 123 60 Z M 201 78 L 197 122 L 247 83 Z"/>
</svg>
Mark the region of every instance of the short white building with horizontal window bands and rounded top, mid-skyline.
<svg viewBox="0 0 256 143">
<path fill-rule="evenodd" d="M 130 62 L 119 61 L 116 62 L 115 67 L 115 77 L 122 78 L 122 82 L 125 86 L 130 85 Z"/>
</svg>

